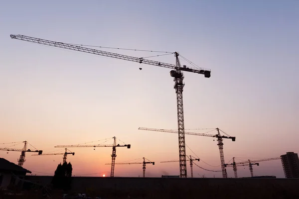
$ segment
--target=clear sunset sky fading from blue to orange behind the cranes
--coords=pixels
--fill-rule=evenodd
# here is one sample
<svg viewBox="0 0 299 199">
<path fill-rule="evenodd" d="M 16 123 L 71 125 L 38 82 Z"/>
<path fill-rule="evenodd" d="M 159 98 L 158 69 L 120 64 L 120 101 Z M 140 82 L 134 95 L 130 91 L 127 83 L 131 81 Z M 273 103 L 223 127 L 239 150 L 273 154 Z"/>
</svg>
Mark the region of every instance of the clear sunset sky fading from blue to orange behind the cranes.
<svg viewBox="0 0 299 199">
<path fill-rule="evenodd" d="M 46 153 L 57 150 L 55 145 L 116 136 L 132 145 L 117 149 L 116 162 L 146 157 L 156 162 L 147 166 L 147 176 L 179 175 L 178 163 L 159 164 L 178 159 L 177 135 L 138 130 L 177 128 L 169 69 L 9 37 L 22 34 L 74 44 L 177 51 L 212 71 L 209 79 L 185 73 L 185 128 L 219 127 L 236 136 L 236 142 L 224 140 L 226 162 L 299 152 L 299 0 L 1 1 L 0 30 L 1 143 L 27 140 Z M 153 59 L 175 63 L 173 55 Z M 220 170 L 216 141 L 186 135 L 186 144 L 216 167 L 202 161 L 199 166 Z M 110 166 L 104 164 L 111 162 L 111 148 L 70 150 L 75 152 L 68 159 L 74 175 L 109 175 Z M 195 156 L 188 148 L 186 152 Z M 19 155 L 0 152 L 14 163 Z M 37 175 L 53 174 L 61 159 L 27 153 L 24 167 Z M 247 167 L 238 171 L 240 177 L 250 176 Z M 221 177 L 195 166 L 194 176 L 198 174 Z M 254 174 L 284 177 L 280 160 L 254 166 Z M 142 165 L 116 166 L 115 176 L 138 175 Z M 233 177 L 232 169 L 228 175 Z"/>
</svg>

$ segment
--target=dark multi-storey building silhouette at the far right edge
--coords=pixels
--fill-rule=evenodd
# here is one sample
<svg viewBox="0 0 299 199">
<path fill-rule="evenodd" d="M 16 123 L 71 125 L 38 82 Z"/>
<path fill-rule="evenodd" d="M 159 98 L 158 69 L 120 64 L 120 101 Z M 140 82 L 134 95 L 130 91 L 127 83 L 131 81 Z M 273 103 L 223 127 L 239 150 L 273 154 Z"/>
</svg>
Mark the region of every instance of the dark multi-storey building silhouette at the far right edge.
<svg viewBox="0 0 299 199">
<path fill-rule="evenodd" d="M 294 152 L 287 152 L 286 155 L 281 155 L 283 168 L 286 178 L 299 178 L 299 158 Z"/>
</svg>

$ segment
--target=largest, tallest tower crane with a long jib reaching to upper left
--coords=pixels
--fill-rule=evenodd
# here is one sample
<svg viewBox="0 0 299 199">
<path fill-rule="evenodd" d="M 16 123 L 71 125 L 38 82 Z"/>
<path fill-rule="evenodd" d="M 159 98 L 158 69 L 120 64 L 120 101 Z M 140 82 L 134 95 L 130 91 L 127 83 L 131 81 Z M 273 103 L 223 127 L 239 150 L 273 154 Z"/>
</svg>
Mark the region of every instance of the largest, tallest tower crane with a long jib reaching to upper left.
<svg viewBox="0 0 299 199">
<path fill-rule="evenodd" d="M 117 53 L 111 53 L 107 51 L 101 51 L 101 50 L 96 50 L 96 49 L 91 49 L 91 48 L 86 48 L 82 46 L 77 46 L 77 45 L 72 45 L 72 44 L 67 44 L 67 43 L 62 43 L 62 42 L 56 42 L 56 41 L 50 41 L 50 40 L 45 40 L 45 39 L 39 39 L 39 38 L 34 38 L 34 37 L 29 37 L 29 36 L 24 36 L 24 35 L 10 35 L 12 39 L 19 39 L 23 41 L 28 41 L 28 42 L 33 42 L 33 43 L 38 43 L 38 44 L 43 44 L 43 45 L 48 45 L 48 46 L 54 46 L 58 48 L 65 48 L 69 50 L 74 50 L 74 51 L 80 51 L 80 52 L 85 52 L 85 53 L 91 53 L 95 55 L 101 55 L 101 56 L 106 56 L 106 57 L 112 57 L 116 59 L 123 59 L 127 61 L 132 61 L 132 62 L 138 62 L 141 64 L 149 64 L 153 66 L 159 66 L 163 68 L 168 68 L 172 69 L 170 71 L 170 76 L 173 77 L 174 83 L 174 89 L 176 93 L 176 107 L 177 107 L 177 129 L 178 129 L 178 148 L 179 148 L 179 166 L 180 166 L 180 178 L 186 178 L 187 177 L 187 170 L 186 170 L 186 149 L 185 149 L 185 133 L 184 133 L 184 111 L 183 111 L 183 87 L 184 87 L 184 75 L 183 71 L 186 72 L 191 72 L 191 73 L 197 73 L 197 74 L 203 74 L 205 78 L 210 78 L 211 77 L 211 70 L 210 69 L 205 69 L 205 68 L 192 68 L 192 67 L 186 67 L 183 65 L 181 67 L 180 61 L 179 61 L 179 54 L 177 52 L 174 52 L 175 60 L 176 63 L 175 65 L 173 64 L 167 64 L 163 62 L 158 62 L 158 61 L 153 61 L 153 60 L 148 60 L 144 58 L 138 58 L 138 57 L 132 57 L 132 56 L 127 56 L 127 55 L 122 55 L 122 54 L 117 54 Z M 184 58 L 185 59 L 185 58 Z"/>
</svg>

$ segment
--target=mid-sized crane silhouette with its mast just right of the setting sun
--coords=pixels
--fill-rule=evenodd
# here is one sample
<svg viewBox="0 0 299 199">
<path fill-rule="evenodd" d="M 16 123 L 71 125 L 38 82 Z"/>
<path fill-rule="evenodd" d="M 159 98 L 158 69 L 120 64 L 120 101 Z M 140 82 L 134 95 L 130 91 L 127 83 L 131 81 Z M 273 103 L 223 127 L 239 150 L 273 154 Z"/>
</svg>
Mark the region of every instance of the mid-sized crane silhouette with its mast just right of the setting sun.
<svg viewBox="0 0 299 199">
<path fill-rule="evenodd" d="M 110 177 L 114 177 L 114 166 L 115 166 L 115 158 L 116 158 L 116 147 L 127 147 L 128 149 L 131 148 L 131 144 L 125 144 L 125 145 L 120 145 L 120 144 L 116 144 L 116 137 L 113 137 L 114 142 L 113 145 L 57 145 L 54 147 L 112 147 L 112 162 L 111 162 L 111 173 L 110 173 Z"/>
</svg>

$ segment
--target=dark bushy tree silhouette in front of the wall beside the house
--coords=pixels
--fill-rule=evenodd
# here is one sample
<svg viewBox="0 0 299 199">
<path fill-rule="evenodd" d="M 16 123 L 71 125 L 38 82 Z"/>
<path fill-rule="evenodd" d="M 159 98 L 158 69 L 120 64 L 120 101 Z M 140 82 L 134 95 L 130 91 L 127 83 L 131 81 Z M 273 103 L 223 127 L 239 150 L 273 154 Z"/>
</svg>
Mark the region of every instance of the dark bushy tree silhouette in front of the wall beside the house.
<svg viewBox="0 0 299 199">
<path fill-rule="evenodd" d="M 73 168 L 70 162 L 65 162 L 63 164 L 60 163 L 57 166 L 51 182 L 54 189 L 62 189 L 64 191 L 70 190 L 72 183 L 72 171 Z"/>
</svg>

